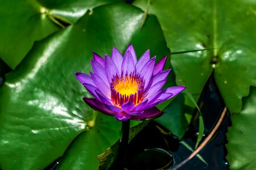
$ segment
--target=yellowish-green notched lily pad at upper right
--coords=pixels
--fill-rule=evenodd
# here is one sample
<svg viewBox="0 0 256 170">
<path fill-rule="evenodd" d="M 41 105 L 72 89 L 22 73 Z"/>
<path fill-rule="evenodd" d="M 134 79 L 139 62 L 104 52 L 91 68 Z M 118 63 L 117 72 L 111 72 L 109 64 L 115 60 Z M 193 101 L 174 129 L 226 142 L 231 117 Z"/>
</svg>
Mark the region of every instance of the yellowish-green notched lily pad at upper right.
<svg viewBox="0 0 256 170">
<path fill-rule="evenodd" d="M 147 1 L 135 5 L 146 9 Z M 150 1 L 173 52 L 214 48 L 172 56 L 177 83 L 197 99 L 215 67 L 215 78 L 230 112 L 240 112 L 242 97 L 256 86 L 255 1 Z M 212 65 L 214 63 L 215 65 Z"/>
</svg>

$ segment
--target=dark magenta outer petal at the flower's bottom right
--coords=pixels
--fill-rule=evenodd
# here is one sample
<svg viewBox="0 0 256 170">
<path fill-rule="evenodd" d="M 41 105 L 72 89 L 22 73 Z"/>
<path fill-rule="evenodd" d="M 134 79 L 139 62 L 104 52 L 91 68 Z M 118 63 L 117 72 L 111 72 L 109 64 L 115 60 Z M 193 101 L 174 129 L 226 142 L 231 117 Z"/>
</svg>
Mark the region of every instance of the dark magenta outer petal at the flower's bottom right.
<svg viewBox="0 0 256 170">
<path fill-rule="evenodd" d="M 162 111 L 156 107 L 152 107 L 150 109 L 146 109 L 142 114 L 139 116 L 132 116 L 131 120 L 150 120 L 153 118 L 160 117 L 162 115 Z"/>
</svg>

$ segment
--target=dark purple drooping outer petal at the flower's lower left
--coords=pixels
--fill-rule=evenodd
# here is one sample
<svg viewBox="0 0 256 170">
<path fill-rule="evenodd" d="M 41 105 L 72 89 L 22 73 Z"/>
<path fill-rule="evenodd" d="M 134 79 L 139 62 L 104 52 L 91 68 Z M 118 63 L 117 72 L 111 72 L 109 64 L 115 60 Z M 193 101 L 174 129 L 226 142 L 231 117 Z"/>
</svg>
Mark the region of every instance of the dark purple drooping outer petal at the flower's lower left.
<svg viewBox="0 0 256 170">
<path fill-rule="evenodd" d="M 96 99 L 90 99 L 90 98 L 86 98 L 84 97 L 83 100 L 85 100 L 85 102 L 93 109 L 102 112 L 104 114 L 110 115 L 110 116 L 114 116 L 114 112 L 108 110 L 105 105 L 103 103 L 101 103 L 100 101 L 96 100 Z"/>
</svg>

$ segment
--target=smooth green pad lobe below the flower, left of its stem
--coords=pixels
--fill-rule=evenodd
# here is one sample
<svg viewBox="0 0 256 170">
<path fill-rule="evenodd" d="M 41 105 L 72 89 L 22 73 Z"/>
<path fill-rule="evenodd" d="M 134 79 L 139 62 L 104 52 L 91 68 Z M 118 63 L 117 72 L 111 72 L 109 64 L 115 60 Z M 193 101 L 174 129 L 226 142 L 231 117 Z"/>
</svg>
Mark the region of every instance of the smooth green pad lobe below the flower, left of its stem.
<svg viewBox="0 0 256 170">
<path fill-rule="evenodd" d="M 121 124 L 113 117 L 100 114 L 88 131 L 80 134 L 65 152 L 57 169 L 96 169 L 97 155 L 117 141 Z"/>
</svg>

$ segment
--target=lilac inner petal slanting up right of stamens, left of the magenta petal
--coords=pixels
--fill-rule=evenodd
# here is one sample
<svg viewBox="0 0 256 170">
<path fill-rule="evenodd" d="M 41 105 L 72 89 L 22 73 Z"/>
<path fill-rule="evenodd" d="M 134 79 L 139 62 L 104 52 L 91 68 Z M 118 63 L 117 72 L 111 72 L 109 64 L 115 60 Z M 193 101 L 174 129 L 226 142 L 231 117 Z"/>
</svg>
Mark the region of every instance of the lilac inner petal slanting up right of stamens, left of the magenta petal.
<svg viewBox="0 0 256 170">
<path fill-rule="evenodd" d="M 145 80 L 144 88 L 146 88 L 149 84 L 149 80 L 152 77 L 153 69 L 154 69 L 154 62 L 156 61 L 156 57 L 153 57 L 149 60 L 148 63 L 141 69 L 140 76 Z"/>
</svg>

